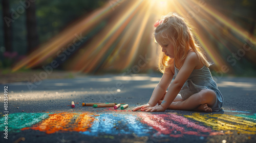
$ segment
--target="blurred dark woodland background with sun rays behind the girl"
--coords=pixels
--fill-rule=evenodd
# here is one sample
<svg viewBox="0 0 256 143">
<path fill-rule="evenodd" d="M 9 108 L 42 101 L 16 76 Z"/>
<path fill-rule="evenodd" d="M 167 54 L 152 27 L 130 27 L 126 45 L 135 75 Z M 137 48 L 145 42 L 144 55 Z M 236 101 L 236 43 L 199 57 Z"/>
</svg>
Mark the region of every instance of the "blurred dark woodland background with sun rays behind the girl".
<svg viewBox="0 0 256 143">
<path fill-rule="evenodd" d="M 176 12 L 194 26 L 213 76 L 255 76 L 254 0 L 2 0 L 1 74 L 160 73 L 152 34 Z"/>
</svg>

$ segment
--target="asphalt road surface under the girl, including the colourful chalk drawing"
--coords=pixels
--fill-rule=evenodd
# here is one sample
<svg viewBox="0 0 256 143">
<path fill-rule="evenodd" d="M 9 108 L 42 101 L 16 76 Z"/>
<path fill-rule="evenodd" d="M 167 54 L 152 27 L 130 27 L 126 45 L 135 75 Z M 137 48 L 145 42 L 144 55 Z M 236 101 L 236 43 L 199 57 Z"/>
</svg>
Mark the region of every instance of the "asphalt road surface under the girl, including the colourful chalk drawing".
<svg viewBox="0 0 256 143">
<path fill-rule="evenodd" d="M 88 75 L 0 84 L 0 140 L 13 142 L 24 137 L 25 141 L 20 142 L 256 141 L 256 78 L 216 77 L 224 96 L 223 110 L 219 112 L 132 112 L 135 106 L 148 102 L 160 78 L 160 74 Z M 83 107 L 83 102 L 116 102 L 129 107 Z M 9 111 L 8 118 L 4 111 Z M 5 121 L 8 139 L 4 138 Z"/>
</svg>

